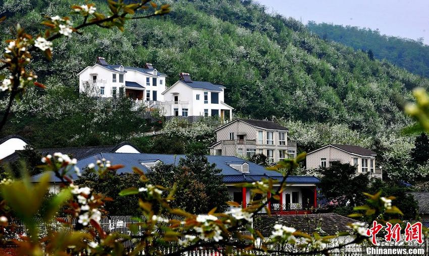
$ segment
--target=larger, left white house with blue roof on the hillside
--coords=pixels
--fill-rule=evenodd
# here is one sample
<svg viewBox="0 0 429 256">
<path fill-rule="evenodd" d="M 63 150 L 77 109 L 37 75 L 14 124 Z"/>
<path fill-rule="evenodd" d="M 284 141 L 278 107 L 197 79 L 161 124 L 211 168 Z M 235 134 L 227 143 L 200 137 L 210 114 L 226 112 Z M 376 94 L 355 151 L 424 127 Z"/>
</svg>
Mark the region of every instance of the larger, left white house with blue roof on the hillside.
<svg viewBox="0 0 429 256">
<path fill-rule="evenodd" d="M 79 74 L 79 92 L 90 96 L 114 97 L 125 95 L 137 101 L 153 103 L 163 101 L 167 75 L 159 73 L 146 63 L 145 68 L 109 65 L 103 57 L 97 57 L 92 67 Z"/>
</svg>

